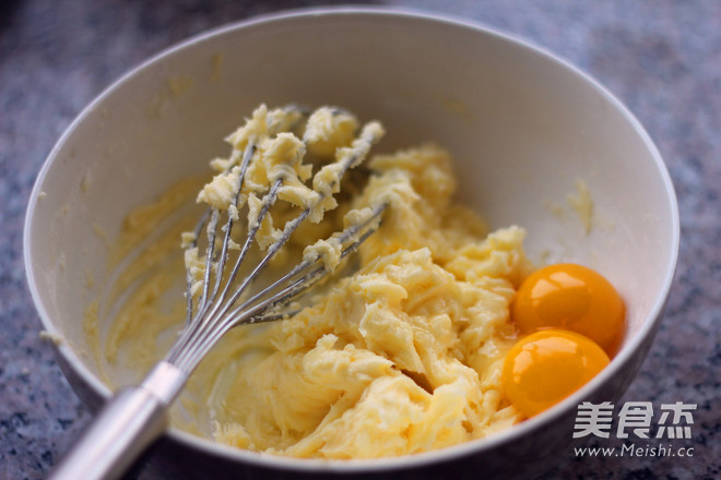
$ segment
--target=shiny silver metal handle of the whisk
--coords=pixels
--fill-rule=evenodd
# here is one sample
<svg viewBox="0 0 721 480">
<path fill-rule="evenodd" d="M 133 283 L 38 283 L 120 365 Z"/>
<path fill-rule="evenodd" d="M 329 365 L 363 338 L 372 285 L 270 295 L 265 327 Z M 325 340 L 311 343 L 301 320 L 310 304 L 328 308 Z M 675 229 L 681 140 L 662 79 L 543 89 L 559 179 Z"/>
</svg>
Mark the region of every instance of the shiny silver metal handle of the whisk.
<svg viewBox="0 0 721 480">
<path fill-rule="evenodd" d="M 119 391 L 48 479 L 111 480 L 122 477 L 163 434 L 167 427 L 168 405 L 185 385 L 185 375 L 170 371 L 168 376 L 167 367 L 161 363 L 141 386 Z"/>
</svg>

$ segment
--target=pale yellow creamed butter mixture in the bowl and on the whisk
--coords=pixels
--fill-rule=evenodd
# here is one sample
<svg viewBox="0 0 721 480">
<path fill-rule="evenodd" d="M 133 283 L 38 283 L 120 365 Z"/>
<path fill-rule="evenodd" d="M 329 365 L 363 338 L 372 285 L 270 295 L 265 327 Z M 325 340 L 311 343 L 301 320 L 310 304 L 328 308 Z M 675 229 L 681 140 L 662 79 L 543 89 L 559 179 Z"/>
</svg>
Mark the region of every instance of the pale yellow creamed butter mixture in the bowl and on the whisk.
<svg viewBox="0 0 721 480">
<path fill-rule="evenodd" d="M 212 163 L 217 175 L 198 201 L 228 209 L 237 156 L 250 139 L 262 137 L 259 155 L 286 160 L 259 163 L 249 171 L 240 203 L 252 224 L 259 202 L 253 181 L 269 181 L 275 170 L 292 178 L 283 200 L 298 207 L 317 204 L 317 224 L 294 240 L 310 245 L 306 257 L 318 255 L 334 267 L 339 245 L 332 238 L 317 240 L 343 223 L 367 218 L 379 202 L 390 206 L 351 274 L 327 285 L 292 317 L 238 327 L 211 351 L 181 398 L 185 417 L 174 412 L 176 425 L 210 431 L 216 441 L 240 448 L 348 459 L 441 448 L 520 421 L 504 397 L 500 371 L 516 341 L 509 302 L 531 268 L 523 230 L 488 233 L 475 213 L 454 203 L 451 159 L 434 145 L 371 155 L 364 164 L 370 176 L 357 192 L 318 202 L 317 192 L 333 190 L 339 180 L 339 159 L 368 151 L 382 128 L 359 127 L 347 112 L 321 108 L 305 121 L 303 134 L 269 132 L 273 122 L 295 121 L 279 110 L 256 110 L 228 139 L 236 158 Z M 304 163 L 304 155 L 312 161 Z M 314 175 L 316 171 L 323 173 Z M 234 208 L 229 214 L 238 215 Z M 277 238 L 282 218 L 274 213 L 261 223 L 261 243 Z M 125 362 L 142 373 L 169 347 L 173 335 L 164 333 L 182 324 L 185 300 L 169 309 L 161 301 L 170 276 L 184 280 L 179 230 L 164 255 L 180 263 L 155 262 L 164 266 L 134 291 L 103 340 L 109 370 Z M 184 237 L 186 244 L 191 240 Z M 198 252 L 187 253 L 186 261 L 192 266 Z M 200 278 L 202 265 L 197 266 Z"/>
</svg>

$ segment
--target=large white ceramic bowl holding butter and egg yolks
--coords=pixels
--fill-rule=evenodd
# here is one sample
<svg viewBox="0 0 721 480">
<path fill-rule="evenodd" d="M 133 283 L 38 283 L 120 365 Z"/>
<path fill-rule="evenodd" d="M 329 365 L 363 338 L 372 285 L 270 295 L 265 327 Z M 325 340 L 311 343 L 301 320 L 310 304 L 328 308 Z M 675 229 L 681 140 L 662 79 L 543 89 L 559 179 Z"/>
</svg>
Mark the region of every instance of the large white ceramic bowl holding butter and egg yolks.
<svg viewBox="0 0 721 480">
<path fill-rule="evenodd" d="M 191 38 L 113 84 L 50 153 L 31 199 L 25 261 L 59 360 L 95 408 L 109 388 L 83 355 L 83 310 L 106 286 L 106 243 L 123 216 L 225 154 L 222 139 L 260 103 L 344 106 L 379 119 L 378 149 L 433 140 L 456 158 L 460 197 L 492 226 L 529 231 L 532 257 L 584 263 L 623 293 L 628 332 L 611 365 L 565 401 L 487 440 L 412 457 L 279 458 L 170 431 L 152 455 L 170 478 L 321 473 L 389 478 L 528 477 L 570 455 L 576 406 L 618 398 L 657 331 L 678 248 L 667 171 L 641 125 L 564 61 L 504 34 L 421 13 L 331 9 L 272 15 Z M 565 205 L 582 179 L 594 204 L 584 235 Z M 557 209 L 557 208 L 556 208 Z M 97 281 L 96 281 L 97 284 Z M 289 393 L 292 394 L 292 393 Z M 275 478 L 275 477 L 273 477 Z M 415 477 L 417 478 L 417 477 Z"/>
</svg>

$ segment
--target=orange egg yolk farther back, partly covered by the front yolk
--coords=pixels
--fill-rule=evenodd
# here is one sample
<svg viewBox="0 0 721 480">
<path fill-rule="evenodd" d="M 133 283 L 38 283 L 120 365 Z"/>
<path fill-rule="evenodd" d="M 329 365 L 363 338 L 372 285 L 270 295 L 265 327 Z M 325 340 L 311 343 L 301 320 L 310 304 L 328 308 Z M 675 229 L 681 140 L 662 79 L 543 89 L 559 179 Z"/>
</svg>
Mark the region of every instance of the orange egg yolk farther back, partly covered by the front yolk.
<svg viewBox="0 0 721 480">
<path fill-rule="evenodd" d="M 616 289 L 595 271 L 571 263 L 548 265 L 518 289 L 511 317 L 522 333 L 565 328 L 614 355 L 625 329 L 626 308 Z"/>
</svg>

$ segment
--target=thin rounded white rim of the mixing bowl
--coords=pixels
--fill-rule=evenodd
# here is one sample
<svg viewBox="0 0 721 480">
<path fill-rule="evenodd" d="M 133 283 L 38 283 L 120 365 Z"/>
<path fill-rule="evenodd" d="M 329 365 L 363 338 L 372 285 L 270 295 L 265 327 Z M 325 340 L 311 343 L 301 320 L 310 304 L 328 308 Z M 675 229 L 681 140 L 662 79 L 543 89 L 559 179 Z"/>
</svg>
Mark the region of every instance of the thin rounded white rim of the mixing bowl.
<svg viewBox="0 0 721 480">
<path fill-rule="evenodd" d="M 432 12 L 427 10 L 419 10 L 413 8 L 399 8 L 399 7 L 359 7 L 359 5 L 345 5 L 345 7 L 312 7 L 283 10 L 268 14 L 256 15 L 237 22 L 232 22 L 214 28 L 206 29 L 199 34 L 192 35 L 179 43 L 164 48 L 157 53 L 151 56 L 141 63 L 132 67 L 126 73 L 120 75 L 117 80 L 110 83 L 103 92 L 97 95 L 83 110 L 75 117 L 70 125 L 64 130 L 62 135 L 51 148 L 43 167 L 40 168 L 33 187 L 28 206 L 25 214 L 25 223 L 23 230 L 23 261 L 25 266 L 25 274 L 27 278 L 28 289 L 35 304 L 35 308 L 40 317 L 43 328 L 50 334 L 60 334 L 55 327 L 47 309 L 44 305 L 43 297 L 36 285 L 35 273 L 32 268 L 32 247 L 31 238 L 33 231 L 33 217 L 35 214 L 36 205 L 38 203 L 42 185 L 51 165 L 57 160 L 58 153 L 73 134 L 76 128 L 101 105 L 114 91 L 122 84 L 131 80 L 141 71 L 152 68 L 155 63 L 161 62 L 166 57 L 176 53 L 182 49 L 192 47 L 193 45 L 203 43 L 210 38 L 229 34 L 235 31 L 246 29 L 258 25 L 270 25 L 274 23 L 282 23 L 294 21 L 296 19 L 304 19 L 307 16 L 350 16 L 350 15 L 365 15 L 365 16 L 379 16 L 379 17 L 397 17 L 402 20 L 415 20 L 429 23 L 441 23 L 452 27 L 473 31 L 478 34 L 487 35 L 496 39 L 512 44 L 515 47 L 527 49 L 536 56 L 544 58 L 546 61 L 555 63 L 556 67 L 565 69 L 568 73 L 579 77 L 580 81 L 587 83 L 590 87 L 595 89 L 602 95 L 608 106 L 616 109 L 628 122 L 636 134 L 643 142 L 645 147 L 653 158 L 655 168 L 659 171 L 663 188 L 669 202 L 669 211 L 671 214 L 671 224 L 673 227 L 671 237 L 671 255 L 666 259 L 666 272 L 663 278 L 662 288 L 658 292 L 653 304 L 650 308 L 650 313 L 640 325 L 635 336 L 626 344 L 622 350 L 613 358 L 611 364 L 596 375 L 591 382 L 587 383 L 583 387 L 575 392 L 569 397 L 565 398 L 559 404 L 549 408 L 548 410 L 528 419 L 520 424 L 516 424 L 501 432 L 494 433 L 484 439 L 477 439 L 464 442 L 458 445 L 448 446 L 440 449 L 424 452 L 414 455 L 403 455 L 399 457 L 383 457 L 373 459 L 315 459 L 315 458 L 294 458 L 281 455 L 271 455 L 259 452 L 251 452 L 215 443 L 211 440 L 201 439 L 193 434 L 180 431 L 175 428 L 168 428 L 165 435 L 170 440 L 182 444 L 186 447 L 193 448 L 198 452 L 211 456 L 220 456 L 231 461 L 244 461 L 259 467 L 265 468 L 280 468 L 284 470 L 294 470 L 302 472 L 343 472 L 343 473 L 361 473 L 361 472 L 378 472 L 390 471 L 400 468 L 418 468 L 441 461 L 450 461 L 465 456 L 489 451 L 500 445 L 512 442 L 519 437 L 540 428 L 544 423 L 553 422 L 562 416 L 567 415 L 568 411 L 576 406 L 599 385 L 606 382 L 610 377 L 615 375 L 620 367 L 631 359 L 640 346 L 655 333 L 657 326 L 661 321 L 663 308 L 669 297 L 669 291 L 673 283 L 675 269 L 678 261 L 679 248 L 679 218 L 678 218 L 678 204 L 674 191 L 673 182 L 671 181 L 667 168 L 659 153 L 657 146 L 651 140 L 648 132 L 643 129 L 638 119 L 630 112 L 630 110 L 616 98 L 608 89 L 601 85 L 595 79 L 574 65 L 569 61 L 563 59 L 556 53 L 546 50 L 543 47 L 535 45 L 524 38 L 517 37 L 512 34 L 497 29 L 495 27 L 482 24 L 480 21 L 462 19 L 446 13 Z M 111 395 L 110 389 L 101 380 L 85 367 L 78 352 L 75 352 L 67 343 L 55 344 L 57 352 L 62 359 L 74 370 L 95 394 L 98 394 L 104 399 L 108 399 Z"/>
</svg>

